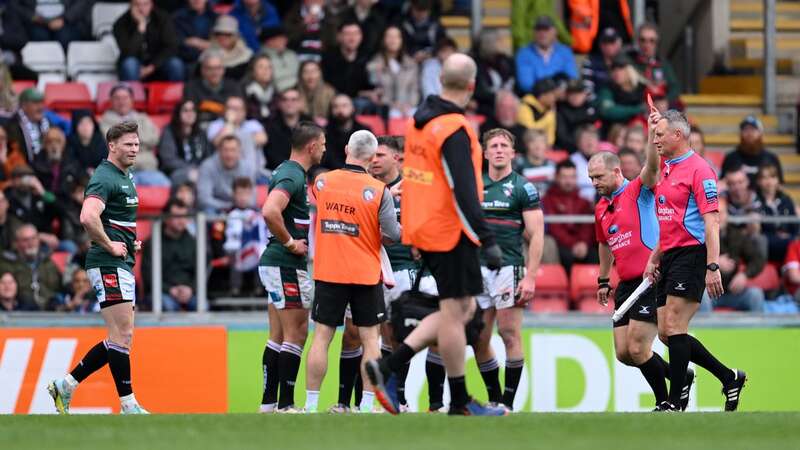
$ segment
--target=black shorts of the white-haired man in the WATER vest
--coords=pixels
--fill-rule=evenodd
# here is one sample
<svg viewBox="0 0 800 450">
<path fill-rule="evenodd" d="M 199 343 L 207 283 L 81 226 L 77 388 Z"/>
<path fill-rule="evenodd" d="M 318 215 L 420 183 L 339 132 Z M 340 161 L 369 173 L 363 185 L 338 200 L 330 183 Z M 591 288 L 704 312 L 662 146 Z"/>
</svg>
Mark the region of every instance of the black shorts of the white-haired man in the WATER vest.
<svg viewBox="0 0 800 450">
<path fill-rule="evenodd" d="M 381 283 L 367 286 L 319 280 L 314 285 L 311 319 L 323 325 L 338 327 L 344 324 L 344 313 L 348 304 L 353 314 L 353 323 L 357 327 L 371 327 L 387 319 Z"/>
</svg>

